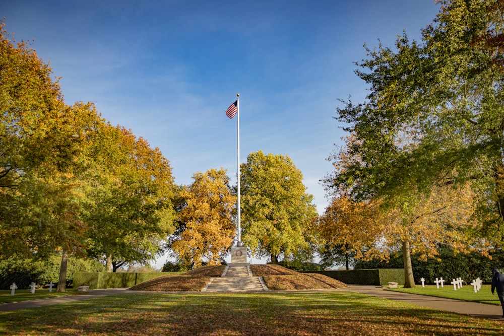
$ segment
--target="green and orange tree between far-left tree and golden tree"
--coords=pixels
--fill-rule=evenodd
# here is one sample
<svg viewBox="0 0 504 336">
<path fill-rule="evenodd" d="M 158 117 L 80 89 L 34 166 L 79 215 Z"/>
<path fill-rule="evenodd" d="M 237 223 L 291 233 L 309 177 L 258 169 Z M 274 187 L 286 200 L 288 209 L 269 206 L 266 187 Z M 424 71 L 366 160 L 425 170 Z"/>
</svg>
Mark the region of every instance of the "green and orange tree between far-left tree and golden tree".
<svg viewBox="0 0 504 336">
<path fill-rule="evenodd" d="M 153 260 L 174 231 L 168 160 L 131 130 L 110 124 L 101 125 L 87 155 L 89 253 L 105 258 L 113 272 Z"/>
</svg>

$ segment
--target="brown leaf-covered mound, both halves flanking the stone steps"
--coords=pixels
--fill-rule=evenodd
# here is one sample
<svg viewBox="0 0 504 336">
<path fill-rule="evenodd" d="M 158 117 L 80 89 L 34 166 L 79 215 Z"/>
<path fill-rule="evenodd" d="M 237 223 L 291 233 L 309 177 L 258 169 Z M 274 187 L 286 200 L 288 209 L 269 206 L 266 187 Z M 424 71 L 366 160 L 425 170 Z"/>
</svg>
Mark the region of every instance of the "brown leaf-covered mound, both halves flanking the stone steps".
<svg viewBox="0 0 504 336">
<path fill-rule="evenodd" d="M 132 287 L 138 291 L 200 292 L 210 278 L 220 277 L 225 266 L 203 266 L 176 276 L 162 276 Z M 316 273 L 299 273 L 280 265 L 251 265 L 255 277 L 263 277 L 271 291 L 316 290 L 347 287 L 344 283 Z"/>
</svg>

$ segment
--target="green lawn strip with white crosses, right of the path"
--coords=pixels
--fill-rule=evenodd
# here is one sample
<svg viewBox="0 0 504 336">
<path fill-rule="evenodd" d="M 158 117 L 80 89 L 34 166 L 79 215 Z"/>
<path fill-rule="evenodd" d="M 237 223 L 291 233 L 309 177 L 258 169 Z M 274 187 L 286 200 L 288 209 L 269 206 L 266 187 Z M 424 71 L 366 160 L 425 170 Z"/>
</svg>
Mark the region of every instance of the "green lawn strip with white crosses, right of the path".
<svg viewBox="0 0 504 336">
<path fill-rule="evenodd" d="M 425 285 L 425 288 L 423 288 L 422 285 L 420 285 L 415 288 L 391 288 L 389 291 L 500 305 L 497 294 L 495 293 L 495 295 L 492 295 L 490 285 L 482 285 L 478 293 L 474 293 L 474 287 L 468 285 L 465 285 L 456 291 L 453 289 L 453 285 L 445 285 L 443 288 L 436 288 L 435 285 Z"/>
</svg>

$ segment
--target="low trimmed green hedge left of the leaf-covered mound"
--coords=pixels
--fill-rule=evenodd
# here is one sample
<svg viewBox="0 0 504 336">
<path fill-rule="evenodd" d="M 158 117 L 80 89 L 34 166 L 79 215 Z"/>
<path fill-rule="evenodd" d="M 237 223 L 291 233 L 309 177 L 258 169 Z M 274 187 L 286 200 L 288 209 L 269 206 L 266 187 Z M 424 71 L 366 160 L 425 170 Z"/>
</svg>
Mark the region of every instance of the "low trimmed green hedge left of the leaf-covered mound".
<svg viewBox="0 0 504 336">
<path fill-rule="evenodd" d="M 89 286 L 93 289 L 132 287 L 144 281 L 185 272 L 142 272 L 142 273 L 105 273 L 79 272 L 74 276 L 74 288 Z"/>
</svg>

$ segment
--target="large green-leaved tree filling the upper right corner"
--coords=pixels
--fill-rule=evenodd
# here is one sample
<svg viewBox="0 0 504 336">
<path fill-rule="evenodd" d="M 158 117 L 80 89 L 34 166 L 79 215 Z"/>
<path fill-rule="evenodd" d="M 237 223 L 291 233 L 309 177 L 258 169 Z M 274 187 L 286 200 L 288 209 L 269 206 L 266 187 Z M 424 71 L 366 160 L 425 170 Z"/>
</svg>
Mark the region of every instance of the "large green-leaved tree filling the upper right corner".
<svg viewBox="0 0 504 336">
<path fill-rule="evenodd" d="M 367 101 L 347 102 L 341 121 L 357 141 L 354 162 L 336 174 L 356 199 L 384 196 L 404 203 L 432 185 L 478 191 L 478 214 L 488 237 L 502 239 L 504 113 L 502 4 L 493 0 L 441 1 L 422 41 L 406 34 L 395 48 L 367 49 L 357 75 Z M 407 139 L 407 141 L 398 141 Z M 397 203 L 396 203 L 397 205 Z"/>
</svg>

